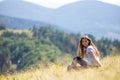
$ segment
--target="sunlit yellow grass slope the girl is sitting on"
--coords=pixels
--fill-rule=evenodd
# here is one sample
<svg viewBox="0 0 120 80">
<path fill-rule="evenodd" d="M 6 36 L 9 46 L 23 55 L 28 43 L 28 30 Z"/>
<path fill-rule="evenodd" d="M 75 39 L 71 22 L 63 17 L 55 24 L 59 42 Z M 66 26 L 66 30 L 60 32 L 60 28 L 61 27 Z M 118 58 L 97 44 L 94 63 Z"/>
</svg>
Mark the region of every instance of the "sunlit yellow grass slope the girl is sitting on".
<svg viewBox="0 0 120 80">
<path fill-rule="evenodd" d="M 101 61 L 101 68 L 68 72 L 67 65 L 51 64 L 49 68 L 31 68 L 12 75 L 1 75 L 0 80 L 120 80 L 120 56 L 108 56 Z"/>
</svg>

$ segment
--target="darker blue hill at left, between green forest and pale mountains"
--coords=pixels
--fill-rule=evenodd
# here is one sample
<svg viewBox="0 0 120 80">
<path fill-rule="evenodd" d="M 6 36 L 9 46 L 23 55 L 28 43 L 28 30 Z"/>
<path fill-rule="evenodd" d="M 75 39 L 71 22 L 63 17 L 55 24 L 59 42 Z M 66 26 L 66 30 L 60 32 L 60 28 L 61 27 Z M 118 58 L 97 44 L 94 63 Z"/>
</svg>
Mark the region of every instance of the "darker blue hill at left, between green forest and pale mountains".
<svg viewBox="0 0 120 80">
<path fill-rule="evenodd" d="M 40 22 L 40 21 L 32 21 L 28 19 L 20 19 L 8 16 L 0 15 L 0 24 L 4 24 L 7 28 L 14 28 L 14 29 L 29 29 L 34 26 L 41 27 L 41 26 L 50 26 L 48 23 Z"/>
</svg>

